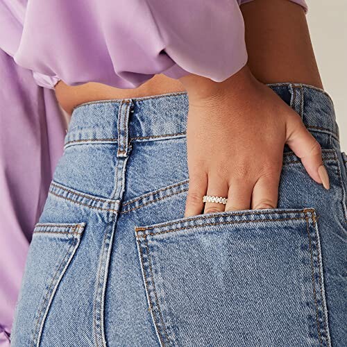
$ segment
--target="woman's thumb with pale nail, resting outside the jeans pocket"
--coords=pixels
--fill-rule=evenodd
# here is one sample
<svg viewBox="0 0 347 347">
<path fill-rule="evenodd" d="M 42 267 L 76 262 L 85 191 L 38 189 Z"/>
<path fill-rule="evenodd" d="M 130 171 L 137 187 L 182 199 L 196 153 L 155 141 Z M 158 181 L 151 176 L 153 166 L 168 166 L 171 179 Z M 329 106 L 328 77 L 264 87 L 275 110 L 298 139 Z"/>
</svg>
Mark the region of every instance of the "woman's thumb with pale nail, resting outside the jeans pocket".
<svg viewBox="0 0 347 347">
<path fill-rule="evenodd" d="M 286 126 L 286 144 L 301 158 L 307 174 L 316 183 L 321 183 L 325 189 L 329 189 L 329 176 L 323 165 L 319 142 L 307 130 L 301 117 L 296 112 L 288 117 Z"/>
</svg>

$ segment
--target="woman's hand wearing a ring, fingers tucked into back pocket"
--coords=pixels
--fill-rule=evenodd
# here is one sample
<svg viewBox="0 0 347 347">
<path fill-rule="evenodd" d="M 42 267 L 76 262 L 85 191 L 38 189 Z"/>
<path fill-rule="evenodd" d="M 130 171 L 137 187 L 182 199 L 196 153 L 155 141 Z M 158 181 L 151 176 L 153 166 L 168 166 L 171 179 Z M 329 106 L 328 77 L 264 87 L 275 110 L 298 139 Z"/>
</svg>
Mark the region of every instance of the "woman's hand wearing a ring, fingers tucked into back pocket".
<svg viewBox="0 0 347 347">
<path fill-rule="evenodd" d="M 189 96 L 185 217 L 202 213 L 204 195 L 228 197 L 228 203 L 205 203 L 203 213 L 276 208 L 285 144 L 329 189 L 319 142 L 247 65 L 221 83 L 196 75 L 180 81 Z"/>
</svg>

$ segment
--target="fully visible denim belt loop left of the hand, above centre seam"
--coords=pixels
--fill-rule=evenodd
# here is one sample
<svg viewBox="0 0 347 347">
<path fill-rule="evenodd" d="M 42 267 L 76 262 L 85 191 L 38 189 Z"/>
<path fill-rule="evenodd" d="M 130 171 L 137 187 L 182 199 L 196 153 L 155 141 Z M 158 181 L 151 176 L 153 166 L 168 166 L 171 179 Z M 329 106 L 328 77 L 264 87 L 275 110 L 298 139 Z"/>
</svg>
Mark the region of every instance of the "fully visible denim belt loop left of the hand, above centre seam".
<svg viewBox="0 0 347 347">
<path fill-rule="evenodd" d="M 121 101 L 118 111 L 117 132 L 118 132 L 118 149 L 117 157 L 127 157 L 129 151 L 129 115 L 133 106 L 132 99 Z"/>
</svg>

